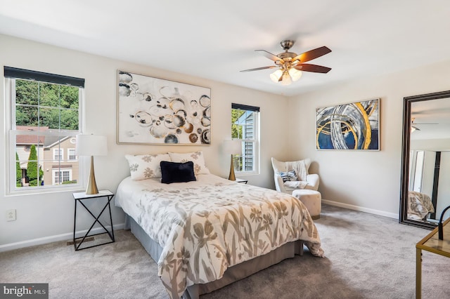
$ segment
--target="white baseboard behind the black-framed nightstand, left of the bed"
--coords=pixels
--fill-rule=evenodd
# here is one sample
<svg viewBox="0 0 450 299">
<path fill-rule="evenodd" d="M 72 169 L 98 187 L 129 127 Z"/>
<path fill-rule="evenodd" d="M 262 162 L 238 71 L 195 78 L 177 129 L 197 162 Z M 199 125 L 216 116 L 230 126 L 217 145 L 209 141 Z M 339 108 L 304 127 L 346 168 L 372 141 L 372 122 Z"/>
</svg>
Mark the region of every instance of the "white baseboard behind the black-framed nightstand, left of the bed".
<svg viewBox="0 0 450 299">
<path fill-rule="evenodd" d="M 105 226 L 108 230 L 110 230 L 110 226 Z M 120 223 L 117 225 L 114 225 L 114 230 L 123 230 L 125 227 L 124 223 Z M 86 234 L 87 230 L 80 230 L 75 232 L 75 237 L 83 237 L 84 234 Z M 105 232 L 105 230 L 103 230 L 102 227 L 96 227 L 93 228 L 91 230 L 91 232 L 89 234 L 98 234 L 101 232 Z M 73 232 L 68 232 L 66 234 L 57 234 L 55 236 L 49 236 L 49 237 L 43 237 L 43 238 L 38 238 L 38 239 L 32 239 L 32 240 L 26 240 L 26 241 L 20 241 L 20 242 L 15 242 L 15 243 L 11 243 L 11 244 L 4 244 L 4 245 L 0 245 L 0 252 L 3 251 L 10 251 L 10 250 L 14 250 L 14 249 L 18 249 L 18 248 L 25 248 L 25 247 L 30 247 L 30 246 L 35 246 L 35 245 L 41 245 L 41 244 L 47 244 L 47 243 L 51 243 L 51 242 L 56 242 L 56 241 L 72 241 L 73 239 Z"/>
</svg>

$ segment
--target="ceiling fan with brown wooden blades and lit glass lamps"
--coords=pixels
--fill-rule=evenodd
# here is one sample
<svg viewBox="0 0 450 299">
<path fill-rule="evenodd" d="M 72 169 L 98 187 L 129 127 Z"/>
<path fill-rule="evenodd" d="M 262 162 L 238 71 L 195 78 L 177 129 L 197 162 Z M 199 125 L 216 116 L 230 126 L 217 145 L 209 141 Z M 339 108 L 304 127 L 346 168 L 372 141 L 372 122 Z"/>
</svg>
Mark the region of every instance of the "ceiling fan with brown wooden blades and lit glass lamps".
<svg viewBox="0 0 450 299">
<path fill-rule="evenodd" d="M 330 67 L 304 63 L 330 53 L 331 50 L 329 48 L 327 48 L 326 46 L 322 46 L 320 48 L 315 48 L 314 50 L 297 55 L 297 53 L 289 52 L 289 49 L 292 48 L 294 43 L 295 41 L 291 39 L 281 41 L 280 45 L 281 48 L 283 48 L 284 52 L 279 53 L 278 55 L 274 55 L 265 50 L 255 50 L 256 52 L 266 56 L 266 58 L 273 60 L 275 62 L 275 65 L 271 65 L 269 67 L 257 67 L 255 69 L 245 69 L 240 72 L 252 72 L 259 71 L 261 69 L 276 69 L 276 71 L 273 72 L 270 77 L 272 81 L 281 82 L 281 84 L 283 85 L 289 85 L 292 83 L 292 81 L 297 81 L 298 79 L 300 79 L 300 77 L 302 77 L 302 71 L 323 74 L 330 72 Z"/>
</svg>

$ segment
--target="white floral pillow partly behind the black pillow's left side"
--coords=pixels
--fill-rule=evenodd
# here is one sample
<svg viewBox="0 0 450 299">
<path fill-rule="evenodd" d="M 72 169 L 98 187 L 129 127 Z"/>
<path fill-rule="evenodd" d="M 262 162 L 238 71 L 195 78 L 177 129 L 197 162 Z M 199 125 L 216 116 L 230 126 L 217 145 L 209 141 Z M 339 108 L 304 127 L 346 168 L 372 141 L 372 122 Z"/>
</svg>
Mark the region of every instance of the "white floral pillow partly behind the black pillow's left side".
<svg viewBox="0 0 450 299">
<path fill-rule="evenodd" d="M 146 178 L 161 178 L 161 161 L 170 161 L 169 154 L 141 154 L 133 156 L 126 154 L 129 163 L 131 180 Z"/>
</svg>

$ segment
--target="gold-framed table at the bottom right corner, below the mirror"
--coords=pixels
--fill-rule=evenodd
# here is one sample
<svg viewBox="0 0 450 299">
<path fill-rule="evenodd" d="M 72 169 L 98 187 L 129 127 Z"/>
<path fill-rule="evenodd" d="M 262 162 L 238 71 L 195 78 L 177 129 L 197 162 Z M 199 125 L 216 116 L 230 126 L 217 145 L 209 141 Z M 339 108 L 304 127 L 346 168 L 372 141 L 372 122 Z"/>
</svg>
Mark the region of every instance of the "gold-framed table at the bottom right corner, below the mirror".
<svg viewBox="0 0 450 299">
<path fill-rule="evenodd" d="M 439 240 L 438 228 L 430 232 L 416 244 L 416 298 L 422 297 L 422 251 L 430 251 L 450 258 L 450 218 L 443 223 L 444 239 Z"/>
</svg>

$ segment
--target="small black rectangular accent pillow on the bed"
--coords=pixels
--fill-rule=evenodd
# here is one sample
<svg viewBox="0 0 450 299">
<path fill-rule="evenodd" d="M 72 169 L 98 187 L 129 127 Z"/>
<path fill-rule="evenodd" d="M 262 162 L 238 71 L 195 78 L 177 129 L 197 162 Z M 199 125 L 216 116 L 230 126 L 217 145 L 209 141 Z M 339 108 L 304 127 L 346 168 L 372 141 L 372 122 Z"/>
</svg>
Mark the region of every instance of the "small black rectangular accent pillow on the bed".
<svg viewBox="0 0 450 299">
<path fill-rule="evenodd" d="M 172 182 L 191 182 L 197 180 L 192 161 L 184 163 L 161 161 L 160 166 L 162 183 L 170 184 Z"/>
</svg>

